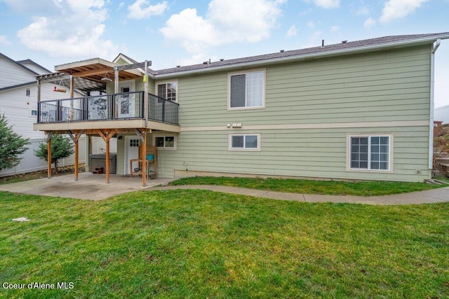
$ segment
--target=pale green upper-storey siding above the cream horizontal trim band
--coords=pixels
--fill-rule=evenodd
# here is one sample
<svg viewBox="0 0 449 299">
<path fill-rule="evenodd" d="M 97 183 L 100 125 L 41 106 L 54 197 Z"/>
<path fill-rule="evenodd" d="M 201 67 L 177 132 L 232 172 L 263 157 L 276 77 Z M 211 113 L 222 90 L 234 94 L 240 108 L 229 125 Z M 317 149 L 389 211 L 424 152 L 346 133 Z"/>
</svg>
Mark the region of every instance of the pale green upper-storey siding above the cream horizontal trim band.
<svg viewBox="0 0 449 299">
<path fill-rule="evenodd" d="M 269 65 L 265 109 L 229 111 L 227 72 L 180 77 L 180 125 L 427 120 L 430 49 Z"/>
</svg>

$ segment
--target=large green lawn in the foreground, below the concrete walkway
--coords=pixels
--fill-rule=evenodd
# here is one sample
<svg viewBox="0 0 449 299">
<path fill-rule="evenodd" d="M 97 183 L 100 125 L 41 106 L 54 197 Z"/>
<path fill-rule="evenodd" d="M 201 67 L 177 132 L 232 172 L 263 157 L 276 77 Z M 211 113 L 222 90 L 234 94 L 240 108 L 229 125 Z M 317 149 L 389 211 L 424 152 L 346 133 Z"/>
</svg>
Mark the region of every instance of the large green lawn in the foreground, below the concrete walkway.
<svg viewBox="0 0 449 299">
<path fill-rule="evenodd" d="M 1 298 L 448 298 L 449 204 L 0 193 Z M 25 216 L 29 222 L 9 222 Z"/>
</svg>

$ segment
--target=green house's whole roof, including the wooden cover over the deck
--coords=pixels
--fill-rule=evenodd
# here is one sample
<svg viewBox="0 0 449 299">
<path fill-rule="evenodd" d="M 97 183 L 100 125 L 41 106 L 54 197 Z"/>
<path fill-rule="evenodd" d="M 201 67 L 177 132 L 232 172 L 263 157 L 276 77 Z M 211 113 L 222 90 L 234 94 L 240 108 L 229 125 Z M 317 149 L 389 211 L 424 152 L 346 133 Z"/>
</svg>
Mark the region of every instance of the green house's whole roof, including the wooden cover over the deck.
<svg viewBox="0 0 449 299">
<path fill-rule="evenodd" d="M 219 71 L 221 69 L 232 69 L 235 67 L 261 66 L 279 62 L 307 60 L 336 55 L 350 55 L 354 53 L 372 52 L 376 50 L 424 45 L 434 43 L 437 39 L 449 39 L 449 32 L 384 36 L 375 39 L 365 39 L 362 41 L 343 41 L 342 43 L 328 46 L 280 51 L 278 53 L 242 57 L 232 60 L 220 60 L 218 62 L 204 62 L 203 64 L 194 64 L 185 67 L 174 67 L 156 71 L 153 69 L 148 69 L 148 72 L 153 78 L 166 78 L 208 71 Z M 114 78 L 114 67 L 120 67 L 120 64 L 116 64 L 115 62 L 119 60 L 120 57 L 132 62 L 133 64 L 138 64 L 136 60 L 133 60 L 123 53 L 119 53 L 119 55 L 117 55 L 114 59 L 114 62 L 102 60 L 101 58 L 93 58 L 90 60 L 60 64 L 55 66 L 55 71 L 65 74 L 72 74 L 75 77 L 76 82 L 81 84 L 81 88 L 79 87 L 80 85 L 76 84 L 76 88 L 79 90 L 100 90 L 101 88 L 104 90 L 106 83 L 105 81 L 102 81 L 102 78 Z M 58 80 L 60 80 L 58 76 L 62 76 L 62 74 L 58 75 L 58 73 L 53 73 L 51 76 L 55 76 Z M 142 69 L 126 69 L 119 71 L 119 81 L 135 79 L 142 76 Z M 81 77 L 87 81 L 81 82 Z M 36 78 L 43 78 L 43 76 L 38 76 Z M 91 83 L 88 83 L 89 80 L 95 81 L 97 85 L 90 85 Z M 57 83 L 56 81 L 53 82 Z"/>
</svg>

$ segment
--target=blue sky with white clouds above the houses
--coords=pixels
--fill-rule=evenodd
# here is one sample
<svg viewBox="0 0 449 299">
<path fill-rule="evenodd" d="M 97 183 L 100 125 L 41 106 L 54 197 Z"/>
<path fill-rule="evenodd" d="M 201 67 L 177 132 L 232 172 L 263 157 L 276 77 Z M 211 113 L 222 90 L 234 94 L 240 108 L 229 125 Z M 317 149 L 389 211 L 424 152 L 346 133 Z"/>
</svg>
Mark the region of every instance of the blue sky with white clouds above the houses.
<svg viewBox="0 0 449 299">
<path fill-rule="evenodd" d="M 54 66 L 123 53 L 152 69 L 398 34 L 449 32 L 449 0 L 0 0 L 0 53 Z M 449 105 L 449 39 L 435 56 Z"/>
</svg>

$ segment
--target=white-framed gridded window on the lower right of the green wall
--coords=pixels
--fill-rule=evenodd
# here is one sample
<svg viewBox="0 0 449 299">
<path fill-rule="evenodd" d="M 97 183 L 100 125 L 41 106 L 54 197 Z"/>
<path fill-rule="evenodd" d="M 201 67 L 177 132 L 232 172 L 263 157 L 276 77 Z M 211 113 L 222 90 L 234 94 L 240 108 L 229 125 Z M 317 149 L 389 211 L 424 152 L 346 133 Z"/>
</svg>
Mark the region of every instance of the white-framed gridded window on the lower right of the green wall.
<svg viewBox="0 0 449 299">
<path fill-rule="evenodd" d="M 349 169 L 390 170 L 390 136 L 350 136 Z"/>
</svg>

